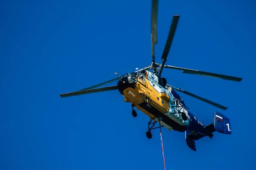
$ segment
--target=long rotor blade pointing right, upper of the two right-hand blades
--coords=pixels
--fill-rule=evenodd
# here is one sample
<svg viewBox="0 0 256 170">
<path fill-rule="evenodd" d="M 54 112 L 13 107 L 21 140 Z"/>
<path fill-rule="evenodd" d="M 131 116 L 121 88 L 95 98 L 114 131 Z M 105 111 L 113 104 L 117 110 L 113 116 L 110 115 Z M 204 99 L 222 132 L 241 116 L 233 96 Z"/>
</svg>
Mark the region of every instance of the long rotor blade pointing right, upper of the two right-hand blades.
<svg viewBox="0 0 256 170">
<path fill-rule="evenodd" d="M 186 74 L 195 74 L 195 75 L 200 75 L 200 76 L 215 77 L 215 78 L 219 78 L 219 79 L 232 80 L 232 81 L 236 81 L 236 82 L 240 82 L 242 80 L 242 78 L 239 78 L 239 77 L 226 76 L 223 74 L 215 74 L 215 73 L 210 73 L 210 72 L 205 72 L 205 71 L 192 70 L 192 69 L 188 69 L 188 68 L 175 67 L 175 66 L 171 66 L 171 65 L 165 65 L 164 67 L 175 69 L 175 70 L 182 70 L 182 73 L 186 73 Z"/>
</svg>

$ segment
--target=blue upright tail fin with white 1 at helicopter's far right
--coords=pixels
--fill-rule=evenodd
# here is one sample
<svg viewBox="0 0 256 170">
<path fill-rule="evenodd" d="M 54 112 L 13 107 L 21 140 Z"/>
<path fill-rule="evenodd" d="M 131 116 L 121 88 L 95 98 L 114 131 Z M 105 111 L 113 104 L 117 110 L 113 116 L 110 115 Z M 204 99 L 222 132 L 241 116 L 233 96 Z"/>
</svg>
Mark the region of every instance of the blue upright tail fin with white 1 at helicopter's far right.
<svg viewBox="0 0 256 170">
<path fill-rule="evenodd" d="M 219 133 L 231 134 L 230 119 L 217 111 L 214 113 L 213 123 L 206 128 L 210 133 L 217 131 Z"/>
</svg>

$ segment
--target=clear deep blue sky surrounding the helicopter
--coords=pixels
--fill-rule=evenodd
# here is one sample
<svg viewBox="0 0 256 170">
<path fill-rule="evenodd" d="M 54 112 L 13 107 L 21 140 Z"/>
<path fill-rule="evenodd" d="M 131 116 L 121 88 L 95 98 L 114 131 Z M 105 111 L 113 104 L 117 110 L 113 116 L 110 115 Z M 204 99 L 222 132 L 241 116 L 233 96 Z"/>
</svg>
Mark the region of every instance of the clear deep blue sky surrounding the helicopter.
<svg viewBox="0 0 256 170">
<path fill-rule="evenodd" d="M 167 170 L 250 169 L 256 151 L 253 0 L 160 0 L 156 60 L 172 15 L 180 20 L 166 64 L 242 77 L 232 82 L 163 70 L 168 84 L 227 106 L 180 94 L 204 124 L 220 111 L 232 135 L 189 149 L 163 129 Z M 151 63 L 151 0 L 1 1 L 0 169 L 163 170 L 159 129 L 118 91 L 61 98 Z M 110 83 L 115 85 L 117 82 Z"/>
</svg>

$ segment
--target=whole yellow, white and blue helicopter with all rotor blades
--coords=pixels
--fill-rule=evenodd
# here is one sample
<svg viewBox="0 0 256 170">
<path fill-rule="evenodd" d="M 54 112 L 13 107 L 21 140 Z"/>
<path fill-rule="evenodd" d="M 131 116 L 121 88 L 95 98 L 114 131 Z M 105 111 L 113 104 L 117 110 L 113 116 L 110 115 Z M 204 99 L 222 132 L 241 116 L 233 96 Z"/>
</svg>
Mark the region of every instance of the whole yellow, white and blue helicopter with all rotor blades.
<svg viewBox="0 0 256 170">
<path fill-rule="evenodd" d="M 213 105 L 222 110 L 226 110 L 227 107 L 220 105 L 216 102 L 212 102 L 203 97 L 192 94 L 181 88 L 175 88 L 172 85 L 167 84 L 167 80 L 161 77 L 163 68 L 180 70 L 185 74 L 194 74 L 206 77 L 215 77 L 225 80 L 231 80 L 240 82 L 242 78 L 227 76 L 222 74 L 215 74 L 205 71 L 192 70 L 188 68 L 180 68 L 171 65 L 165 65 L 169 50 L 172 45 L 172 41 L 175 35 L 177 24 L 180 15 L 174 15 L 172 18 L 172 24 L 169 29 L 169 35 L 166 40 L 166 45 L 161 57 L 162 63 L 155 62 L 155 50 L 154 45 L 157 45 L 157 13 L 158 13 L 158 0 L 152 0 L 151 2 L 151 49 L 152 49 L 152 62 L 145 68 L 138 69 L 137 71 L 127 73 L 120 76 L 116 72 L 118 77 L 102 82 L 97 85 L 93 85 L 88 88 L 81 89 L 70 93 L 60 94 L 61 97 L 77 96 L 82 94 L 91 94 L 104 91 L 118 90 L 119 93 L 124 96 L 125 102 L 131 103 L 131 112 L 134 117 L 137 116 L 137 112 L 134 108 L 145 113 L 149 117 L 148 131 L 146 136 L 148 139 L 152 138 L 151 130 L 166 127 L 168 130 L 176 130 L 181 133 L 185 133 L 186 144 L 188 147 L 196 151 L 195 141 L 208 136 L 212 139 L 213 132 L 231 134 L 230 119 L 224 114 L 215 111 L 213 114 L 213 123 L 210 125 L 204 125 L 197 117 L 195 117 L 189 108 L 181 99 L 177 92 L 192 96 L 210 105 Z M 149 71 L 152 70 L 152 71 Z M 108 84 L 110 82 L 117 81 L 117 85 L 98 88 L 99 86 Z M 156 123 L 159 126 L 155 127 Z"/>
</svg>

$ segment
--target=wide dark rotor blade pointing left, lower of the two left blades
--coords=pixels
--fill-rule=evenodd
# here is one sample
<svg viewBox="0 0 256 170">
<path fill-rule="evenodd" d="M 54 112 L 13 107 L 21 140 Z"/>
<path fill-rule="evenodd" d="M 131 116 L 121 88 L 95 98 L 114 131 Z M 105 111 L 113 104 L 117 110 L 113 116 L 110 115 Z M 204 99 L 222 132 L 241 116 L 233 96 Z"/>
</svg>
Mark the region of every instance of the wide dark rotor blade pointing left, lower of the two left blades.
<svg viewBox="0 0 256 170">
<path fill-rule="evenodd" d="M 90 93 L 97 93 L 97 92 L 102 92 L 102 91 L 112 91 L 116 90 L 117 85 L 109 86 L 109 87 L 104 87 L 104 88 L 94 88 L 90 90 L 81 90 L 81 91 L 75 91 L 75 92 L 70 92 L 70 93 L 64 93 L 60 94 L 61 97 L 69 97 L 69 96 L 78 96 L 82 94 L 90 94 Z"/>
</svg>

